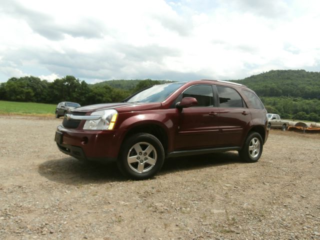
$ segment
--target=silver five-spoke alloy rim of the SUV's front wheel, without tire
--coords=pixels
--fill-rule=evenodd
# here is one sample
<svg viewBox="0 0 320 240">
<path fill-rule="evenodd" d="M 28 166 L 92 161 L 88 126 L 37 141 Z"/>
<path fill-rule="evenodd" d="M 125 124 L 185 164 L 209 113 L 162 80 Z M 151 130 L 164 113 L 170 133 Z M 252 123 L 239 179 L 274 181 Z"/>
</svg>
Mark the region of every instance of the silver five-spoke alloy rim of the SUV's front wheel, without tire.
<svg viewBox="0 0 320 240">
<path fill-rule="evenodd" d="M 154 167 L 157 154 L 152 144 L 141 141 L 131 146 L 126 159 L 129 167 L 133 171 L 143 173 Z"/>
</svg>

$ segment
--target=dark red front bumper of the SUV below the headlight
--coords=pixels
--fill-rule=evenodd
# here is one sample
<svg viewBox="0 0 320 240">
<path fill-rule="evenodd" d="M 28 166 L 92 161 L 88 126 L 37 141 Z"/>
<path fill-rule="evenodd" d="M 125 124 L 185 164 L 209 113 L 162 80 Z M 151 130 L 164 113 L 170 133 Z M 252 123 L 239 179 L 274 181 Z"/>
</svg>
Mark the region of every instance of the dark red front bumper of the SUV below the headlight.
<svg viewBox="0 0 320 240">
<path fill-rule="evenodd" d="M 114 161 L 122 135 L 120 130 L 80 130 L 59 125 L 54 140 L 60 151 L 77 159 Z"/>
</svg>

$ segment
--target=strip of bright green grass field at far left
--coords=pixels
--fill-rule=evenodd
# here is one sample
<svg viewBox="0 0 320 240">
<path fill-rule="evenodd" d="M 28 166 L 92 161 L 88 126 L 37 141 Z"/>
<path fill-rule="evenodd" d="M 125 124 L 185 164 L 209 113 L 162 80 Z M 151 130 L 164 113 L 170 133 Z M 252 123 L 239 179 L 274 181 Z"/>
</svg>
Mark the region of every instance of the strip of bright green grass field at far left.
<svg viewBox="0 0 320 240">
<path fill-rule="evenodd" d="M 55 104 L 0 101 L 0 114 L 52 116 Z"/>
</svg>

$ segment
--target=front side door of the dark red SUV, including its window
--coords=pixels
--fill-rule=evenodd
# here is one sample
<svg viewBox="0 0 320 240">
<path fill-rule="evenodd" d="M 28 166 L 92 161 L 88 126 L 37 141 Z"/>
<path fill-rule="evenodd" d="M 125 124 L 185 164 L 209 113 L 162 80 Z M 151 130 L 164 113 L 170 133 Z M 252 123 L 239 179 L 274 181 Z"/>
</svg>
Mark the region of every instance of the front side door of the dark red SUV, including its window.
<svg viewBox="0 0 320 240">
<path fill-rule="evenodd" d="M 211 84 L 197 84 L 184 90 L 178 99 L 194 97 L 198 105 L 179 112 L 175 149 L 215 146 L 218 142 L 218 108 Z"/>
</svg>

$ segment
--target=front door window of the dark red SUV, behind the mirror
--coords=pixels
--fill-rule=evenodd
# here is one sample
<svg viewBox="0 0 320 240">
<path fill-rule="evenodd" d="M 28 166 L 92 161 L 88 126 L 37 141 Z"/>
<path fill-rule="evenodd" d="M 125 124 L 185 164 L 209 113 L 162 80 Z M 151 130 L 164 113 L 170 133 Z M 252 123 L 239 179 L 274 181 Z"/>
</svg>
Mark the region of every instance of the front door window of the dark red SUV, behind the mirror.
<svg viewBox="0 0 320 240">
<path fill-rule="evenodd" d="M 214 106 L 213 92 L 211 85 L 193 85 L 182 92 L 182 97 L 194 97 L 198 101 L 197 106 Z"/>
</svg>

